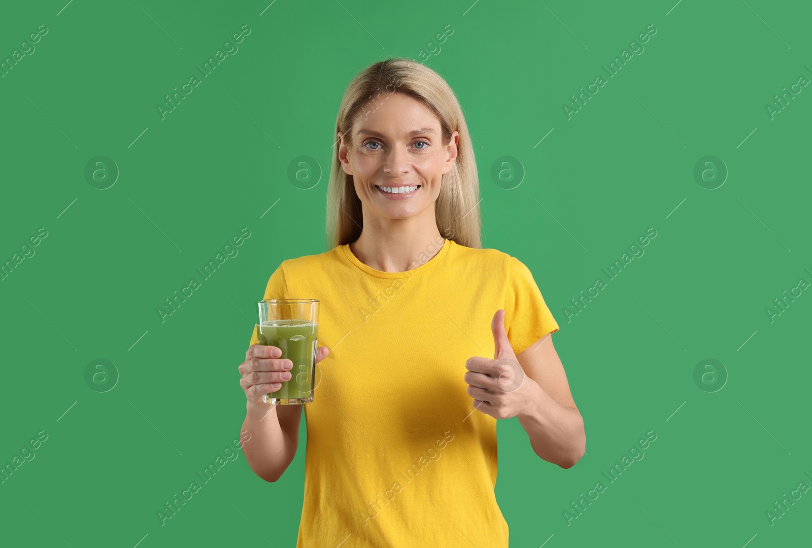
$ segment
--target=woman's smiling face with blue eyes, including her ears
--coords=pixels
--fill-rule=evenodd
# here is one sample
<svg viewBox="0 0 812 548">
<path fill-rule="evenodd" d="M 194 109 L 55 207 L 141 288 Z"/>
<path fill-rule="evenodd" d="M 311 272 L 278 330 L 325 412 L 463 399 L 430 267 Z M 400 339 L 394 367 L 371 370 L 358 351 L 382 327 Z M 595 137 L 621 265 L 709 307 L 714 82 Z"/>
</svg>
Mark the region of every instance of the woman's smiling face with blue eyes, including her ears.
<svg viewBox="0 0 812 548">
<path fill-rule="evenodd" d="M 339 159 L 352 175 L 365 215 L 409 218 L 428 210 L 434 216 L 443 174 L 454 167 L 458 132 L 443 146 L 434 112 L 412 97 L 392 93 L 382 104 L 361 110 L 352 136 L 352 143 L 341 141 Z"/>
</svg>

